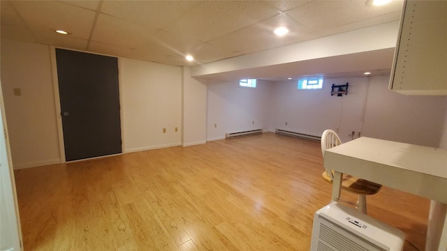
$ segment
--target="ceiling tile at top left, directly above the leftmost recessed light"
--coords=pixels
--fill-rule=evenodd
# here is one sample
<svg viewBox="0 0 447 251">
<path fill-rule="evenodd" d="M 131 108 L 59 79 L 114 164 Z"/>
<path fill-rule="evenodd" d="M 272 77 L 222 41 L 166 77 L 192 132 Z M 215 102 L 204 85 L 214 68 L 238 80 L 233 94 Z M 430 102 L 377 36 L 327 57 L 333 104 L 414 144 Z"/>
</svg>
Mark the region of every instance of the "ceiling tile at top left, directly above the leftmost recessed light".
<svg viewBox="0 0 447 251">
<path fill-rule="evenodd" d="M 95 12 L 60 1 L 13 1 L 24 22 L 32 30 L 63 29 L 73 38 L 88 39 Z M 75 21 L 75 22 L 74 22 Z"/>
</svg>

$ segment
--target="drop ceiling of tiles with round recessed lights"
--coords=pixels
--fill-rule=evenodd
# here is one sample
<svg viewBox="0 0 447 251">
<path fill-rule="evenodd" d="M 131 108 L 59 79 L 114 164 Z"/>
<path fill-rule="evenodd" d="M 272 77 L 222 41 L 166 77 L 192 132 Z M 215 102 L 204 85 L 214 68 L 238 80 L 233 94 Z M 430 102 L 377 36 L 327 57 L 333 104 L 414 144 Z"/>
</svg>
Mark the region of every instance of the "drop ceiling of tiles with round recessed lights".
<svg viewBox="0 0 447 251">
<path fill-rule="evenodd" d="M 402 0 L 381 7 L 337 0 L 2 0 L 1 38 L 196 66 L 393 22 L 399 20 L 401 8 Z M 291 32 L 274 36 L 279 25 Z M 59 35 L 56 29 L 70 34 Z M 186 61 L 186 54 L 195 60 Z"/>
</svg>

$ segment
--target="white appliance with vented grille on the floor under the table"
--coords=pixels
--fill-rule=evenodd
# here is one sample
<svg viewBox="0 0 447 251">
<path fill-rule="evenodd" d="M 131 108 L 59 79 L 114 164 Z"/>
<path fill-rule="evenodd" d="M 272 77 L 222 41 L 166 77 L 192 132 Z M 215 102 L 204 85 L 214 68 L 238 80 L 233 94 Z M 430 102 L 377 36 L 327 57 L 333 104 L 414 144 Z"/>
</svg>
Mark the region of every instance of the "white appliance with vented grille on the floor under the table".
<svg viewBox="0 0 447 251">
<path fill-rule="evenodd" d="M 311 251 L 402 251 L 400 229 L 332 202 L 316 211 Z"/>
</svg>

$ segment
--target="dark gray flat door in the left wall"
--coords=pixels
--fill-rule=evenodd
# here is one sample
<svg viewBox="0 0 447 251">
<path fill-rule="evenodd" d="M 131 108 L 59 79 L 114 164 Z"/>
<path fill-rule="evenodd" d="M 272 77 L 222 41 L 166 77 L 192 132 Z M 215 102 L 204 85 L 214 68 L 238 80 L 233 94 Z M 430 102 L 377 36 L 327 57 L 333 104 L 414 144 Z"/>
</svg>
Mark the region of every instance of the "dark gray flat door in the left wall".
<svg viewBox="0 0 447 251">
<path fill-rule="evenodd" d="M 118 61 L 56 49 L 66 161 L 121 153 Z"/>
</svg>

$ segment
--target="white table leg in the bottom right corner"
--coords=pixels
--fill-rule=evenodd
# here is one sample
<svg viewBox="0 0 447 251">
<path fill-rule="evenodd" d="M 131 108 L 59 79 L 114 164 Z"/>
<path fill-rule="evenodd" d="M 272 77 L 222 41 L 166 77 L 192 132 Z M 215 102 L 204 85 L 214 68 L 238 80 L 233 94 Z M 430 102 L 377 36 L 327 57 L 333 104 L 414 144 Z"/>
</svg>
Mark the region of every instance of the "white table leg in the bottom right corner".
<svg viewBox="0 0 447 251">
<path fill-rule="evenodd" d="M 427 238 L 425 238 L 426 251 L 447 250 L 447 204 L 430 201 L 428 215 Z"/>
</svg>

